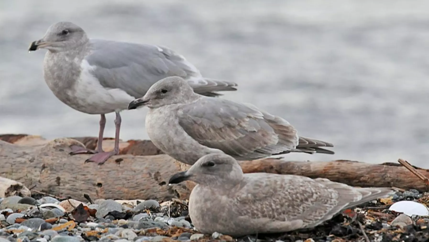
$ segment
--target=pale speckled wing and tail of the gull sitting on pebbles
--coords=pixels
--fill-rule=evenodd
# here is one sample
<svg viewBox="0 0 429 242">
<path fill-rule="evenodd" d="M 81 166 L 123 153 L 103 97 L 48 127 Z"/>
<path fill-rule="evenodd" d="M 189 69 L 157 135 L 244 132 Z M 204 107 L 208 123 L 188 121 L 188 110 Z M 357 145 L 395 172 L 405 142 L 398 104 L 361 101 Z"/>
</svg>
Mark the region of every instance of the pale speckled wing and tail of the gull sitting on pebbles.
<svg viewBox="0 0 429 242">
<path fill-rule="evenodd" d="M 391 188 L 354 188 L 326 178 L 269 173 L 246 174 L 247 185 L 237 194 L 239 215 L 272 221 L 301 221 L 310 228 L 341 210 L 393 195 Z M 265 211 L 255 213 L 254 211 Z M 280 224 L 281 225 L 281 224 Z"/>
</svg>

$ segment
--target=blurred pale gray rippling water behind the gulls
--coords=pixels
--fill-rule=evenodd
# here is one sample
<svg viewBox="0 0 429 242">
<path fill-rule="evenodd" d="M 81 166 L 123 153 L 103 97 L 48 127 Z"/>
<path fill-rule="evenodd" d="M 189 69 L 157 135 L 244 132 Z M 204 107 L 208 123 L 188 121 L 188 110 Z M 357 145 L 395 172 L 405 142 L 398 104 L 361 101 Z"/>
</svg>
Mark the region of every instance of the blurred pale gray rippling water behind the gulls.
<svg viewBox="0 0 429 242">
<path fill-rule="evenodd" d="M 49 25 L 93 38 L 166 45 L 206 77 L 233 80 L 223 98 L 286 118 L 302 136 L 352 159 L 429 168 L 429 2 L 425 0 L 16 0 L 0 2 L 0 133 L 97 136 L 98 115 L 57 100 L 42 76 Z M 147 139 L 146 110 L 124 111 L 121 139 Z M 114 136 L 107 115 L 106 136 Z"/>
</svg>

